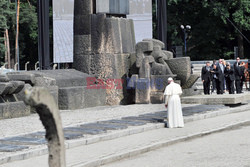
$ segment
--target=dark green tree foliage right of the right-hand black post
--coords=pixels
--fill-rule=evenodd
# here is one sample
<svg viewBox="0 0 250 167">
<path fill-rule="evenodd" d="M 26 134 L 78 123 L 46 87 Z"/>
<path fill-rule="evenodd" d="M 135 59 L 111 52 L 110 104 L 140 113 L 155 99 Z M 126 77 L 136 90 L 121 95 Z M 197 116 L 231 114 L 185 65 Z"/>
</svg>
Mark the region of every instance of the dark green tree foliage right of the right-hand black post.
<svg viewBox="0 0 250 167">
<path fill-rule="evenodd" d="M 187 39 L 192 60 L 232 59 L 234 46 L 244 46 L 241 57 L 250 58 L 250 43 L 236 30 L 250 39 L 249 0 L 168 0 L 167 14 L 168 50 L 184 45 L 183 24 L 192 27 Z"/>
</svg>

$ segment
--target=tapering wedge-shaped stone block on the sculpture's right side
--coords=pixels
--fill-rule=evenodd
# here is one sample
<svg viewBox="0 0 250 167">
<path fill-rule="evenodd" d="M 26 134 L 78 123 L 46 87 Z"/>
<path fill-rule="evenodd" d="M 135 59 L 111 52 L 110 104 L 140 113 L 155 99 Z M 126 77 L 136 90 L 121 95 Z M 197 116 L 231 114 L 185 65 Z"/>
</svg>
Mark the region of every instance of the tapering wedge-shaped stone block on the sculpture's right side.
<svg viewBox="0 0 250 167">
<path fill-rule="evenodd" d="M 190 57 L 182 57 L 167 60 L 171 71 L 177 74 L 177 79 L 181 80 L 181 85 L 183 85 L 191 75 L 191 62 Z"/>
</svg>

